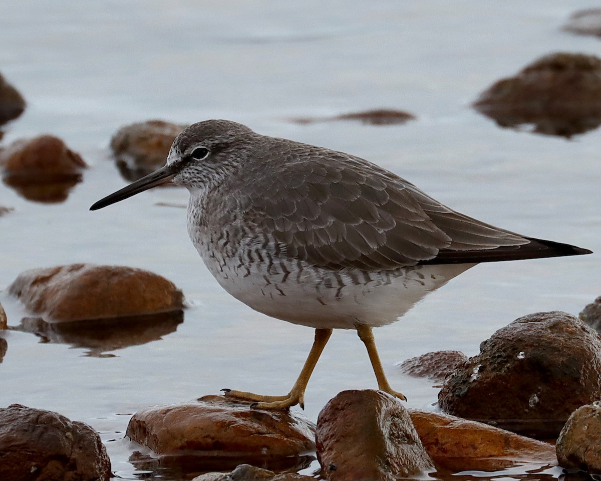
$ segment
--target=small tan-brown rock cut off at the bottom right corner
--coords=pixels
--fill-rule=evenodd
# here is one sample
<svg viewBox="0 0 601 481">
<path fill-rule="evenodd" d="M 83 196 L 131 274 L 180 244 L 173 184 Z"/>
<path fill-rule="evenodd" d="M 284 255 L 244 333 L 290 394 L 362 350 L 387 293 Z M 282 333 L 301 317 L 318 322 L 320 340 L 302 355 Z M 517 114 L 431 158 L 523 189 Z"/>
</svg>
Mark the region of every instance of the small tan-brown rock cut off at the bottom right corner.
<svg viewBox="0 0 601 481">
<path fill-rule="evenodd" d="M 562 468 L 601 474 L 601 402 L 581 406 L 570 415 L 557 440 Z"/>
</svg>

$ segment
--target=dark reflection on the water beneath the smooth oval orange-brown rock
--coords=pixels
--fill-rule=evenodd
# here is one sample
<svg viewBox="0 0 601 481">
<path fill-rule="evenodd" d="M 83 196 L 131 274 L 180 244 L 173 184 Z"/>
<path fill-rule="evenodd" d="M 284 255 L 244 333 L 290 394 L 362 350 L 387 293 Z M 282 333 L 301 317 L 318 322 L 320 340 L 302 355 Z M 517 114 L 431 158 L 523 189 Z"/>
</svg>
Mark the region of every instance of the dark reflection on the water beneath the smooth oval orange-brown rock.
<svg viewBox="0 0 601 481">
<path fill-rule="evenodd" d="M 175 332 L 183 320 L 182 310 L 63 322 L 46 322 L 39 317 L 25 317 L 13 330 L 31 332 L 44 343 L 69 344 L 73 348 L 89 349 L 90 357 L 112 357 L 104 353 L 160 340 Z"/>
</svg>

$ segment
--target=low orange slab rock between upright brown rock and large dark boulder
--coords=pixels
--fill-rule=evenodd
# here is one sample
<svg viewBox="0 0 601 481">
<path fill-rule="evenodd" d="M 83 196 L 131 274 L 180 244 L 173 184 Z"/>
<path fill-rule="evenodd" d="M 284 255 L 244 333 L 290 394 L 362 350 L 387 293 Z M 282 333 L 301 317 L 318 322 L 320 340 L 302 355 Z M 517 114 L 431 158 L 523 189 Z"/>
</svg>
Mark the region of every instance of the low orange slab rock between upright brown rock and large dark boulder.
<svg viewBox="0 0 601 481">
<path fill-rule="evenodd" d="M 436 466 L 456 472 L 498 471 L 513 465 L 556 465 L 555 447 L 513 432 L 440 412 L 409 409 Z"/>
</svg>

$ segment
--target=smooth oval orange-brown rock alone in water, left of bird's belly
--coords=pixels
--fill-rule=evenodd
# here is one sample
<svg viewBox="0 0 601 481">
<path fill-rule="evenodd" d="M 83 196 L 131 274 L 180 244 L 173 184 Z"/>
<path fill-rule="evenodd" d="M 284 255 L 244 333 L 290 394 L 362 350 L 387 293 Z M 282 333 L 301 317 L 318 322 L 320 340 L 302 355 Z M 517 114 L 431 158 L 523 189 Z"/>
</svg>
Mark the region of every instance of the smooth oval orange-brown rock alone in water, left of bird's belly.
<svg viewBox="0 0 601 481">
<path fill-rule="evenodd" d="M 182 292 L 160 275 L 94 264 L 31 269 L 8 292 L 51 322 L 167 312 L 183 302 Z"/>
</svg>

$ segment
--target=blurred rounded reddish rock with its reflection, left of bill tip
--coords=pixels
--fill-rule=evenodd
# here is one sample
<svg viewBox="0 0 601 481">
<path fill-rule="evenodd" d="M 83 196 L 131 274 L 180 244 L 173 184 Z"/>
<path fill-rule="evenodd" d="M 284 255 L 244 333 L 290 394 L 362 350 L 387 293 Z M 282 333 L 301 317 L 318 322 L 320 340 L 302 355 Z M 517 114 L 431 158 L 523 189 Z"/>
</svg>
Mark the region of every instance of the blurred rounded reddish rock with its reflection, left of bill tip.
<svg viewBox="0 0 601 481">
<path fill-rule="evenodd" d="M 0 150 L 5 185 L 28 200 L 56 203 L 66 200 L 70 189 L 81 182 L 87 165 L 78 153 L 52 135 L 21 139 Z"/>
</svg>

